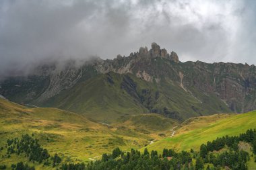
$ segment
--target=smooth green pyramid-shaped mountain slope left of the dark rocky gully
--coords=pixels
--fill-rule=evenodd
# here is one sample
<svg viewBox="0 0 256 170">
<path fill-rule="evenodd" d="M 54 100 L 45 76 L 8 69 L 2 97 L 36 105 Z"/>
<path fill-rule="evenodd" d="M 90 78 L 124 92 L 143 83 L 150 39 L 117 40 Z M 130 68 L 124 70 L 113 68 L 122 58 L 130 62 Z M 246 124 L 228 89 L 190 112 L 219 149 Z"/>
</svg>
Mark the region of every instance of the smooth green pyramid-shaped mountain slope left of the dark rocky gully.
<svg viewBox="0 0 256 170">
<path fill-rule="evenodd" d="M 141 103 L 120 88 L 121 81 L 121 75 L 99 75 L 62 91 L 43 106 L 86 114 L 88 118 L 106 123 L 119 116 L 147 112 Z"/>
</svg>

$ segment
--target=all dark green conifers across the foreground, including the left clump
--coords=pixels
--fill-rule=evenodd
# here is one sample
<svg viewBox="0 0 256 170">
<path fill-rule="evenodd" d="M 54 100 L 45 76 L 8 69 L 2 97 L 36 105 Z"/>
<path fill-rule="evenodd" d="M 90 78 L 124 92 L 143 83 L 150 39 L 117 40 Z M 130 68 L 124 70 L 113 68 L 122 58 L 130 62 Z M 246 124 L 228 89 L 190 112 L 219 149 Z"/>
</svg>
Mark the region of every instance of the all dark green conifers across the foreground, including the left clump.
<svg viewBox="0 0 256 170">
<path fill-rule="evenodd" d="M 249 143 L 253 155 L 239 149 L 239 143 Z M 98 161 L 88 164 L 85 163 L 62 163 L 61 157 L 55 154 L 50 157 L 48 151 L 38 143 L 38 139 L 25 134 L 21 139 L 14 138 L 7 140 L 7 154 L 23 154 L 29 161 L 44 163 L 44 165 L 57 166 L 62 170 L 100 170 L 100 169 L 185 169 L 185 170 L 220 170 L 237 169 L 246 170 L 247 162 L 254 156 L 256 162 L 256 130 L 247 130 L 238 136 L 223 136 L 215 140 L 201 144 L 199 151 L 191 149 L 188 151 L 177 152 L 173 149 L 164 148 L 162 154 L 157 151 L 148 151 L 147 148 L 141 153 L 131 149 L 123 152 L 120 148 L 115 148 L 112 153 L 102 155 Z M 195 160 L 195 161 L 193 161 Z M 0 165 L 3 167 L 5 165 Z M 24 163 L 12 165 L 15 170 L 32 170 Z"/>
</svg>

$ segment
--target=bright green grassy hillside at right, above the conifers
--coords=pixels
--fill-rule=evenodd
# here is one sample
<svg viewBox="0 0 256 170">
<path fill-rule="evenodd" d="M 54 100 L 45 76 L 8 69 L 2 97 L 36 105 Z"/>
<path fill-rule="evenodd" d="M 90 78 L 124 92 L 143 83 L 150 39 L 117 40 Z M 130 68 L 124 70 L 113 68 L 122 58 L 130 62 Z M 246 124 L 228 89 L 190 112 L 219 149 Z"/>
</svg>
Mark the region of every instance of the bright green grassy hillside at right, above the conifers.
<svg viewBox="0 0 256 170">
<path fill-rule="evenodd" d="M 207 141 L 226 135 L 238 135 L 247 129 L 256 128 L 256 111 L 246 114 L 214 115 L 187 120 L 172 138 L 164 138 L 147 146 L 149 150 L 162 151 L 174 148 L 177 151 L 195 150 Z"/>
</svg>

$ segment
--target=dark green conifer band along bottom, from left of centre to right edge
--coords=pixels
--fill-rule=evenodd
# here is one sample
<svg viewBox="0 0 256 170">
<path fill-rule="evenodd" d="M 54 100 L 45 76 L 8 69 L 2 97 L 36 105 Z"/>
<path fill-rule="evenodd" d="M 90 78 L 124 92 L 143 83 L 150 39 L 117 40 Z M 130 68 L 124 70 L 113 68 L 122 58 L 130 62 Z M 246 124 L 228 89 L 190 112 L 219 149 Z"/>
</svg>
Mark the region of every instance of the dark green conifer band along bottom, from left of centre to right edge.
<svg viewBox="0 0 256 170">
<path fill-rule="evenodd" d="M 147 148 L 140 153 L 131 149 L 130 152 L 124 153 L 120 148 L 115 148 L 111 154 L 103 154 L 102 159 L 91 162 L 87 165 L 84 163 L 65 163 L 61 166 L 63 170 L 98 170 L 98 169 L 185 169 L 185 170 L 219 170 L 224 168 L 246 170 L 247 161 L 250 155 L 246 151 L 239 150 L 239 142 L 247 142 L 253 148 L 253 154 L 256 154 L 256 130 L 247 130 L 238 136 L 223 136 L 216 138 L 206 144 L 201 144 L 199 152 L 181 151 L 176 152 L 173 149 L 164 148 L 162 155 L 157 151 L 149 152 Z M 226 148 L 225 151 L 220 151 Z M 214 151 L 219 151 L 215 152 Z M 195 159 L 195 165 L 193 164 Z M 256 162 L 256 158 L 255 158 Z M 205 166 L 207 164 L 207 166 Z"/>
</svg>

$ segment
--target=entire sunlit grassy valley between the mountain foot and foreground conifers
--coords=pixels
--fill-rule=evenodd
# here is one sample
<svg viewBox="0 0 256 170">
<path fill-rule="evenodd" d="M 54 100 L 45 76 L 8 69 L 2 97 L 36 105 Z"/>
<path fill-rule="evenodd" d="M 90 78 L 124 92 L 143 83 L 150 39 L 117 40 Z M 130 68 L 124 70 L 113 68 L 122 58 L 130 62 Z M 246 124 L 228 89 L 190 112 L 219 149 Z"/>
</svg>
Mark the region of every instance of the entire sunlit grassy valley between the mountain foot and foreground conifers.
<svg viewBox="0 0 256 170">
<path fill-rule="evenodd" d="M 57 153 L 65 163 L 100 160 L 103 153 L 111 153 L 117 146 L 125 152 L 131 148 L 141 152 L 148 148 L 149 152 L 158 153 L 164 148 L 199 151 L 204 142 L 256 128 L 255 112 L 201 116 L 183 123 L 159 114 L 141 114 L 105 124 L 55 108 L 27 108 L 6 99 L 0 99 L 0 110 L 0 146 L 5 146 L 9 138 L 30 134 L 38 138 L 51 155 Z M 0 157 L 0 165 L 28 162 L 22 156 L 7 157 L 3 151 Z M 40 163 L 28 164 L 36 169 L 51 169 Z M 254 166 L 251 161 L 249 165 Z"/>
</svg>

